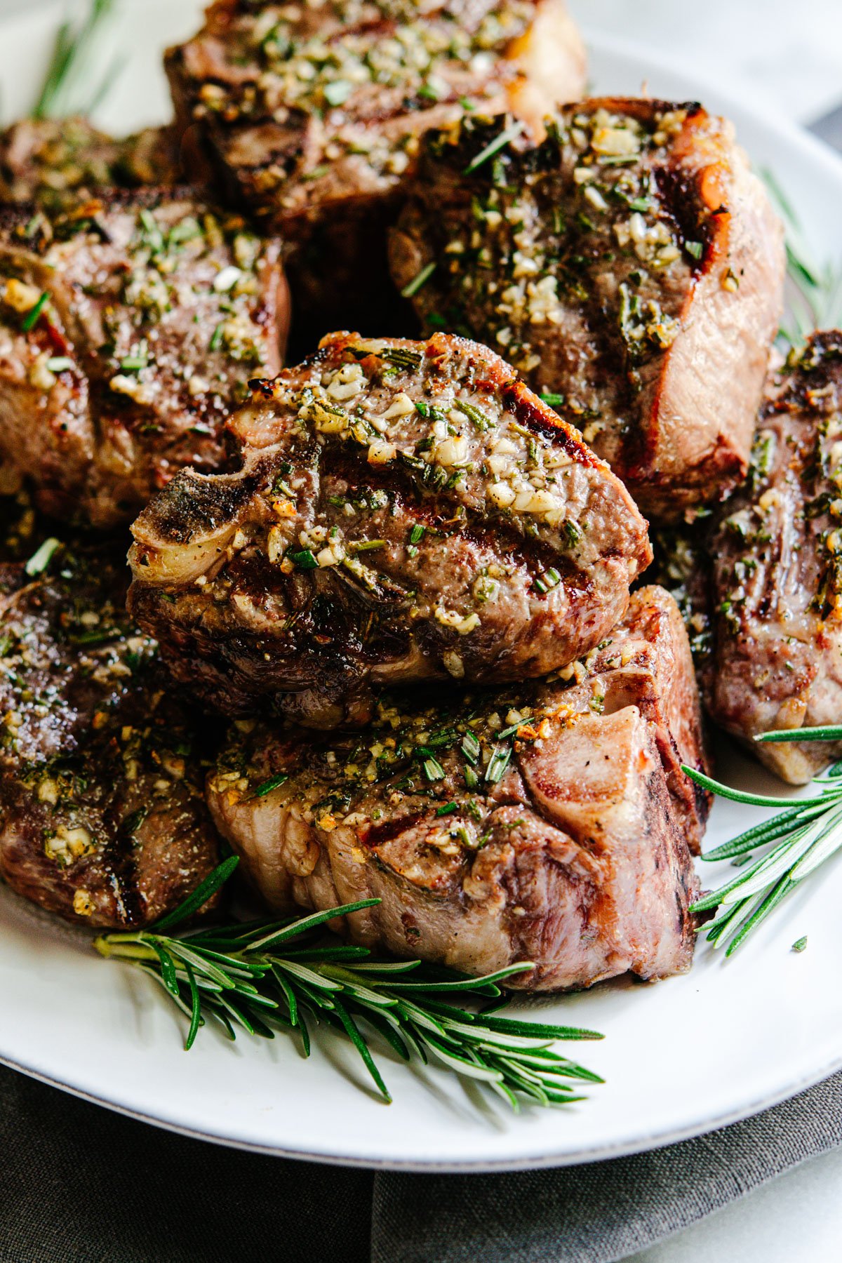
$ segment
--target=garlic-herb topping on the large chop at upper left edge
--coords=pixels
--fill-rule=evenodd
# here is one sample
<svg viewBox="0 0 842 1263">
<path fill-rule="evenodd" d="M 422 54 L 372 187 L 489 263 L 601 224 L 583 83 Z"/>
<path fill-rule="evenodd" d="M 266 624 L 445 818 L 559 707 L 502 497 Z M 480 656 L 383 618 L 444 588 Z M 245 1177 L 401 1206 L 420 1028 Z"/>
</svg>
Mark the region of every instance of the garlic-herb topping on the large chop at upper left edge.
<svg viewBox="0 0 842 1263">
<path fill-rule="evenodd" d="M 11 251 L 20 246 L 38 255 L 48 273 L 62 278 L 67 261 L 85 244 L 93 255 L 85 296 L 101 304 L 102 344 L 96 350 L 110 389 L 135 403 L 154 403 L 158 326 L 162 320 L 188 304 L 196 309 L 194 323 L 212 321 L 210 341 L 202 352 L 203 376 L 196 364 L 167 361 L 174 378 L 184 376 L 182 390 L 188 400 L 218 394 L 221 407 L 227 399 L 242 399 L 249 370 L 264 362 L 265 333 L 260 313 L 258 273 L 261 242 L 237 215 L 218 215 L 201 205 L 178 202 L 162 210 L 150 206 L 127 207 L 129 222 L 119 229 L 117 241 L 126 253 L 126 264 L 114 270 L 110 229 L 101 221 L 102 203 L 87 202 L 74 211 L 49 217 L 37 212 L 10 235 Z M 182 269 L 192 266 L 184 282 Z M 76 370 L 76 355 L 54 351 L 58 323 L 49 288 L 43 290 L 25 275 L 25 265 L 10 250 L 0 272 L 0 317 L 11 330 L 43 333 L 44 352 L 30 369 L 30 381 L 50 390 L 58 375 Z M 18 275 L 16 273 L 20 273 Z M 213 318 L 216 316 L 216 318 Z M 163 352 L 172 355 L 164 345 Z M 226 364 L 227 361 L 227 364 Z M 242 365 L 237 371 L 236 365 Z M 236 373 L 237 380 L 230 380 Z"/>
</svg>

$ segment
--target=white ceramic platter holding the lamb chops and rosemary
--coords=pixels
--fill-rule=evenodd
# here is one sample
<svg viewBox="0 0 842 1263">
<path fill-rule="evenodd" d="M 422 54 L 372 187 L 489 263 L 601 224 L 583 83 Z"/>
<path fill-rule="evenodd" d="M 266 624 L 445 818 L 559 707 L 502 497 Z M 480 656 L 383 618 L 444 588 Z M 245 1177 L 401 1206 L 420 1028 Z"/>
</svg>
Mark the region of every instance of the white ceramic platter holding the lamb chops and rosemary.
<svg viewBox="0 0 842 1263">
<path fill-rule="evenodd" d="M 196 25 L 194 0 L 125 4 L 115 35 L 127 62 L 100 111 L 115 130 L 167 114 L 159 68 L 165 43 Z M 6 116 L 32 105 L 57 8 L 0 23 Z M 593 34 L 596 91 L 699 99 L 728 114 L 759 167 L 771 168 L 802 216 L 815 254 L 842 256 L 842 163 L 797 129 L 736 97 Z M 105 53 L 104 53 L 105 56 Z M 384 330 L 388 332 L 388 330 Z M 745 787 L 780 789 L 731 749 L 720 770 Z M 717 803 L 708 846 L 761 811 Z M 723 871 L 728 871 L 723 869 Z M 721 874 L 706 866 L 709 885 Z M 413 1070 L 384 1053 L 395 1098 L 386 1106 L 340 1039 L 309 1061 L 273 1043 L 215 1032 L 182 1050 L 183 1028 L 151 983 L 100 960 L 73 931 L 0 890 L 0 1060 L 90 1100 L 179 1132 L 292 1157 L 415 1170 L 492 1170 L 582 1162 L 664 1144 L 770 1105 L 842 1066 L 842 942 L 831 865 L 805 883 L 730 962 L 699 943 L 693 971 L 554 1000 L 523 1002 L 545 1019 L 595 1027 L 602 1043 L 572 1045 L 605 1076 L 590 1100 L 519 1116 L 451 1075 Z M 790 951 L 808 935 L 808 950 Z"/>
</svg>

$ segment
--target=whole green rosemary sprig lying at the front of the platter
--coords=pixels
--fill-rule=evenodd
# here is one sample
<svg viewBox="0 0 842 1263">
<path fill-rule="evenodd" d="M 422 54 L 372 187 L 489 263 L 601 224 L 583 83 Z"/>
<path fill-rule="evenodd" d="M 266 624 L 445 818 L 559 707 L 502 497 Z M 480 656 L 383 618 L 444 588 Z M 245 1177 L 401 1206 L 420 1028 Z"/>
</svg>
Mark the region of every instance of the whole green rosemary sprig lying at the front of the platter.
<svg viewBox="0 0 842 1263">
<path fill-rule="evenodd" d="M 102 956 L 135 966 L 167 991 L 188 1019 L 187 1048 L 201 1027 L 215 1019 L 231 1039 L 237 1028 L 268 1039 L 275 1029 L 297 1032 L 308 1056 L 311 1024 L 324 1023 L 351 1041 L 386 1101 L 391 1096 L 369 1046 L 372 1034 L 404 1061 L 418 1057 L 427 1063 L 432 1057 L 457 1075 L 478 1080 L 515 1110 L 521 1098 L 540 1105 L 582 1100 L 574 1085 L 602 1082 L 552 1047 L 557 1039 L 601 1039 L 597 1032 L 497 1015 L 500 984 L 530 969 L 529 964 L 466 978 L 418 960 L 376 961 L 366 947 L 326 937 L 326 922 L 379 899 L 173 936 L 169 931 L 198 912 L 236 865 L 236 856 L 225 860 L 150 930 L 95 940 Z M 452 994 L 496 1003 L 485 1010 L 457 1008 L 447 1003 Z"/>
</svg>

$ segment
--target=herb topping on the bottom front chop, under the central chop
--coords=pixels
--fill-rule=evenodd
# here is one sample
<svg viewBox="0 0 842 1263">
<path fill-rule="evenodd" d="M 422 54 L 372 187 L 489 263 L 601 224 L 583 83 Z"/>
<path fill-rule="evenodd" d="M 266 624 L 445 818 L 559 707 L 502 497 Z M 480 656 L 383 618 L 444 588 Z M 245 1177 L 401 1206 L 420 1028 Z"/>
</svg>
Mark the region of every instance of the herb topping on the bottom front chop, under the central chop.
<svg viewBox="0 0 842 1263">
<path fill-rule="evenodd" d="M 236 721 L 210 786 L 228 806 L 278 792 L 324 832 L 342 823 L 388 829 L 395 818 L 405 822 L 434 808 L 442 823 L 430 836 L 438 849 L 476 850 L 487 841 L 482 825 L 495 807 L 526 801 L 519 757 L 540 750 L 583 715 L 602 714 L 600 672 L 635 659 L 634 647 L 617 642 L 612 653 L 612 644 L 603 640 L 540 685 L 468 692 L 456 702 L 438 692 L 427 706 L 408 693 L 384 693 L 362 733 L 303 736 Z M 384 784 L 385 793 L 376 793 Z"/>
</svg>

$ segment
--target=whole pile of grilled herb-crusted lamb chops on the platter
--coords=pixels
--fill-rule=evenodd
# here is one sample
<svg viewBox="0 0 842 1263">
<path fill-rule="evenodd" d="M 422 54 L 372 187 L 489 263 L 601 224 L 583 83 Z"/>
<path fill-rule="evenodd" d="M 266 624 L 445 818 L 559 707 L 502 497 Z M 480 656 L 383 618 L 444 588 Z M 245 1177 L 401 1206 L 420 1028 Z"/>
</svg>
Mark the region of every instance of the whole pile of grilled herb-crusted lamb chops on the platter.
<svg viewBox="0 0 842 1263">
<path fill-rule="evenodd" d="M 836 337 L 762 402 L 781 229 L 732 129 L 564 105 L 583 64 L 559 0 L 221 0 L 167 54 L 172 128 L 0 141 L 20 893 L 149 923 L 212 817 L 271 907 L 375 894 L 343 930 L 398 955 L 553 990 L 689 966 L 701 707 L 675 601 L 631 591 L 637 505 L 721 520 L 716 584 L 760 585 L 715 599 L 715 717 L 823 714 Z"/>
</svg>

